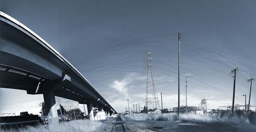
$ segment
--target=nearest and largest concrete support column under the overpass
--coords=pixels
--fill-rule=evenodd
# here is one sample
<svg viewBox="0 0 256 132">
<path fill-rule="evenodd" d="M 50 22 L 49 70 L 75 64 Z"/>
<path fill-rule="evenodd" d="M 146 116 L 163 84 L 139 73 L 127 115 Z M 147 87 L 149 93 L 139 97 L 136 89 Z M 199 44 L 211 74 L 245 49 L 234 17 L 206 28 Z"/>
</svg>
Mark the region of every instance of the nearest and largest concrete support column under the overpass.
<svg viewBox="0 0 256 132">
<path fill-rule="evenodd" d="M 54 105 L 55 102 L 55 96 L 53 91 L 47 91 L 44 92 L 44 101 L 46 105 L 46 113 L 47 113 L 47 119 L 49 125 L 58 124 L 58 113 L 56 106 Z"/>
</svg>

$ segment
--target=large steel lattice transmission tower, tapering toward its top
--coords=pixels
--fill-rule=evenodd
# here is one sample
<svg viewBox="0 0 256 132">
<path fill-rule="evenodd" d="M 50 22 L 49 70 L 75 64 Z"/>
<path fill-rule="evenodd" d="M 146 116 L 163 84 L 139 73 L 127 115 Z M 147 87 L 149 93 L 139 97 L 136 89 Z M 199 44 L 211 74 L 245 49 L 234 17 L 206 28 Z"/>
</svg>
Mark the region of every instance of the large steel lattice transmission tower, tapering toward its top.
<svg viewBox="0 0 256 132">
<path fill-rule="evenodd" d="M 160 108 L 160 105 L 159 105 L 156 86 L 153 78 L 151 55 L 152 55 L 151 52 L 147 52 L 147 80 L 146 80 L 145 110 L 146 110 L 146 113 L 148 113 L 148 111 L 153 111 L 153 113 L 158 113 L 158 109 Z"/>
</svg>

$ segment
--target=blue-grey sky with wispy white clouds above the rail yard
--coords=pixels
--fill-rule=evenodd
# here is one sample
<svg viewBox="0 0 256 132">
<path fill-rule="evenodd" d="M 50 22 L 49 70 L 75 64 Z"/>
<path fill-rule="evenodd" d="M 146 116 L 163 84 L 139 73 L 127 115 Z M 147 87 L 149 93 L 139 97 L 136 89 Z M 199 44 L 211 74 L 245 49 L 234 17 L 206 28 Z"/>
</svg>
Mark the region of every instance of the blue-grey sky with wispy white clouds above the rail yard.
<svg viewBox="0 0 256 132">
<path fill-rule="evenodd" d="M 117 112 L 127 99 L 145 104 L 146 52 L 151 51 L 156 91 L 163 107 L 177 107 L 178 40 L 181 105 L 207 108 L 249 97 L 246 78 L 256 75 L 255 1 L 0 1 L 0 10 L 45 39 L 86 77 Z M 256 105 L 252 83 L 251 105 Z M 42 95 L 0 88 L 0 113 L 38 114 Z M 58 100 L 58 98 L 56 98 Z M 57 101 L 58 102 L 58 101 Z M 64 104 L 65 99 L 60 99 Z M 79 105 L 82 107 L 82 105 Z M 82 109 L 82 108 L 81 108 Z"/>
</svg>

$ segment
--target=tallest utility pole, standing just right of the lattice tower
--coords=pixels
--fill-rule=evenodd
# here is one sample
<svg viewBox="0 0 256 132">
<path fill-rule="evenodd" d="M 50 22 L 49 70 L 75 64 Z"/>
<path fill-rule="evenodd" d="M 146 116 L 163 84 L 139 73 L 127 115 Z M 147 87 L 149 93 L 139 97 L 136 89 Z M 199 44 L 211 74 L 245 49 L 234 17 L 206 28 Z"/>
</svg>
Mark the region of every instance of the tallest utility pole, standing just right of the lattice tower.
<svg viewBox="0 0 256 132">
<path fill-rule="evenodd" d="M 177 120 L 179 120 L 180 117 L 180 37 L 181 33 L 178 32 L 178 40 L 179 40 L 179 62 L 178 62 L 178 115 L 177 115 Z"/>
</svg>

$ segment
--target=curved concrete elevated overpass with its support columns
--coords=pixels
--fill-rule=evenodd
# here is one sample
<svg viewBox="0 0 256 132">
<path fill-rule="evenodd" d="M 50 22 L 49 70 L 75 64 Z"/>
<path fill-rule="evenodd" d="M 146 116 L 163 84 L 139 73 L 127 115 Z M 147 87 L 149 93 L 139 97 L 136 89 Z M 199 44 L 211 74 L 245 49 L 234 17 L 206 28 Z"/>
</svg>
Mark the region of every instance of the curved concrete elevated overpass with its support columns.
<svg viewBox="0 0 256 132">
<path fill-rule="evenodd" d="M 93 115 L 93 107 L 110 115 L 116 113 L 67 59 L 29 28 L 1 11 L 0 56 L 0 87 L 43 94 L 49 122 L 57 119 L 53 107 L 55 96 L 87 104 L 90 115 Z"/>
</svg>

